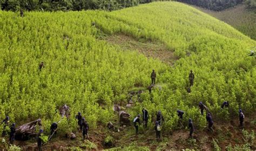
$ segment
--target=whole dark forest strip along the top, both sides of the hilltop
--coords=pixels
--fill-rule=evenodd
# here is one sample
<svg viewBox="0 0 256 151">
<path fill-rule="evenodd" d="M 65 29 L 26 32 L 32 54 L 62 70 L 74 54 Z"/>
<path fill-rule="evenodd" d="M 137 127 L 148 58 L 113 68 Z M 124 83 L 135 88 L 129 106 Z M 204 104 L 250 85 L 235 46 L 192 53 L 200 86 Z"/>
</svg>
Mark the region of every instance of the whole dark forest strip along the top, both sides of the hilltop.
<svg viewBox="0 0 256 151">
<path fill-rule="evenodd" d="M 101 9 L 101 10 L 118 10 L 138 4 L 151 3 L 158 0 L 1 0 L 0 6 L 2 10 L 40 10 L 40 11 L 79 11 L 88 9 Z M 164 0 L 165 1 L 165 0 Z M 170 0 L 167 0 L 170 1 Z M 214 11 L 221 11 L 227 8 L 232 8 L 235 5 L 245 3 L 248 8 L 256 8 L 256 0 L 178 0 L 187 4 L 200 6 Z"/>
</svg>

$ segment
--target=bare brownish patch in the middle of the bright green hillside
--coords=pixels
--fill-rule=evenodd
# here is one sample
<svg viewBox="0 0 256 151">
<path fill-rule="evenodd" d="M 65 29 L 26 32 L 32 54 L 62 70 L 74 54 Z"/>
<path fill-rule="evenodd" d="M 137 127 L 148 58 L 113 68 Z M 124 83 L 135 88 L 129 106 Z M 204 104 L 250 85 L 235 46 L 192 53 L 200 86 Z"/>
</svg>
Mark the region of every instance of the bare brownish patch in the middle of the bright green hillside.
<svg viewBox="0 0 256 151">
<path fill-rule="evenodd" d="M 156 58 L 169 65 L 173 65 L 174 61 L 178 60 L 171 50 L 167 49 L 164 44 L 158 42 L 140 42 L 137 39 L 125 35 L 108 36 L 104 40 L 120 46 L 123 50 L 138 51 L 147 58 Z"/>
</svg>

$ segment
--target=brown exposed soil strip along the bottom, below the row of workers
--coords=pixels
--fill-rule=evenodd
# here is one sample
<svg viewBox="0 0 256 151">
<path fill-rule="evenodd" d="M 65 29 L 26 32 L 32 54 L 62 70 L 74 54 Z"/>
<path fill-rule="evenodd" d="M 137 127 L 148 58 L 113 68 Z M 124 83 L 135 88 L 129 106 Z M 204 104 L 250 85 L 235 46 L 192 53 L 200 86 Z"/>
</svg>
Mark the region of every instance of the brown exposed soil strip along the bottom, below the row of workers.
<svg viewBox="0 0 256 151">
<path fill-rule="evenodd" d="M 245 119 L 245 129 L 248 132 L 255 131 L 256 125 L 251 121 L 255 120 L 255 117 Z M 89 131 L 90 142 L 97 145 L 97 147 L 88 149 L 86 148 L 86 142 L 82 140 L 82 134 L 76 133 L 76 140 L 69 140 L 59 135 L 53 137 L 48 144 L 43 146 L 43 150 L 71 150 L 69 147 L 80 147 L 84 150 L 103 150 L 109 147 L 103 145 L 106 136 L 113 137 L 113 145 L 111 147 L 125 147 L 135 143 L 137 146 L 149 147 L 151 150 L 181 150 L 185 148 L 199 149 L 199 150 L 212 150 L 212 140 L 218 140 L 218 145 L 222 150 L 225 150 L 226 146 L 230 143 L 232 146 L 244 144 L 244 136 L 242 135 L 242 129 L 238 126 L 239 121 L 235 119 L 233 121 L 214 121 L 214 132 L 208 132 L 207 128 L 202 131 L 195 129 L 193 139 L 188 138 L 188 130 L 181 128 L 173 132 L 163 132 L 161 139 L 156 140 L 156 134 L 153 130 L 153 123 L 149 122 L 148 125 L 151 128 L 139 128 L 139 135 L 134 135 L 134 127 L 132 125 L 126 127 L 119 127 L 118 118 L 113 122 L 116 127 L 115 130 L 109 130 L 106 126 L 99 125 L 97 129 Z M 117 132 L 117 129 L 120 132 Z M 163 129 L 164 131 L 164 129 Z M 8 141 L 8 137 L 5 138 Z M 22 147 L 23 150 L 37 150 L 36 139 L 29 141 L 15 141 L 16 146 Z M 3 146 L 0 145 L 0 149 L 3 150 Z M 254 140 L 254 146 L 251 149 L 256 149 L 256 140 Z"/>
</svg>

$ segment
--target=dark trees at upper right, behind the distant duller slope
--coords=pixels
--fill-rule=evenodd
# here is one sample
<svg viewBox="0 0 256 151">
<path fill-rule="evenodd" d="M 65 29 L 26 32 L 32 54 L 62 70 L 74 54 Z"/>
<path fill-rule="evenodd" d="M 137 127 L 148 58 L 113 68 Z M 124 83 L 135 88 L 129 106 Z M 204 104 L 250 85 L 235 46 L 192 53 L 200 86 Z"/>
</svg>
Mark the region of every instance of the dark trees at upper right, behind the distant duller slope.
<svg viewBox="0 0 256 151">
<path fill-rule="evenodd" d="M 253 1 L 253 0 L 248 0 L 248 1 Z M 243 0 L 178 0 L 178 2 L 197 5 L 202 8 L 206 8 L 214 11 L 220 11 L 227 8 L 231 8 L 239 3 L 242 3 Z"/>
</svg>

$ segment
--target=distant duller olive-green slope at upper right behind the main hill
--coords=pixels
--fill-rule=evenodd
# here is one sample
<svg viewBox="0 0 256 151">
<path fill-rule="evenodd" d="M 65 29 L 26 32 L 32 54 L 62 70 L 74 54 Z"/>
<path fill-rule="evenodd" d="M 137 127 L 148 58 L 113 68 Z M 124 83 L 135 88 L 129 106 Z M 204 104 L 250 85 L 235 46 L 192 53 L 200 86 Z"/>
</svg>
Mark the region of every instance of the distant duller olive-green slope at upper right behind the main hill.
<svg viewBox="0 0 256 151">
<path fill-rule="evenodd" d="M 246 5 L 240 4 L 234 8 L 219 12 L 198 7 L 196 8 L 232 25 L 235 29 L 241 31 L 252 39 L 256 39 L 256 13 L 247 10 Z"/>
</svg>

